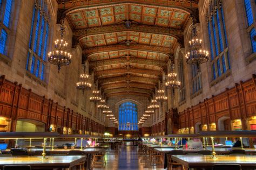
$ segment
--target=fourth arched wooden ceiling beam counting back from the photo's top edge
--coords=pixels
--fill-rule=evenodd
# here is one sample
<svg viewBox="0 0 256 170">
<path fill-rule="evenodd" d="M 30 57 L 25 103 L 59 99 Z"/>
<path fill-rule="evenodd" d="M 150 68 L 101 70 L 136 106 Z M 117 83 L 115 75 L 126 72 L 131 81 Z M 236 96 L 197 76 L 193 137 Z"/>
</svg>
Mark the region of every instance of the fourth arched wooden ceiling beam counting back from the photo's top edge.
<svg viewBox="0 0 256 170">
<path fill-rule="evenodd" d="M 127 60 L 126 58 L 117 58 L 117 59 L 109 59 L 109 60 L 91 61 L 90 69 L 95 69 L 101 66 L 121 64 L 121 63 L 137 63 L 142 65 L 157 66 L 157 67 L 163 68 L 164 70 L 167 68 L 166 61 L 139 59 L 139 58 L 130 58 L 129 60 Z"/>
</svg>

